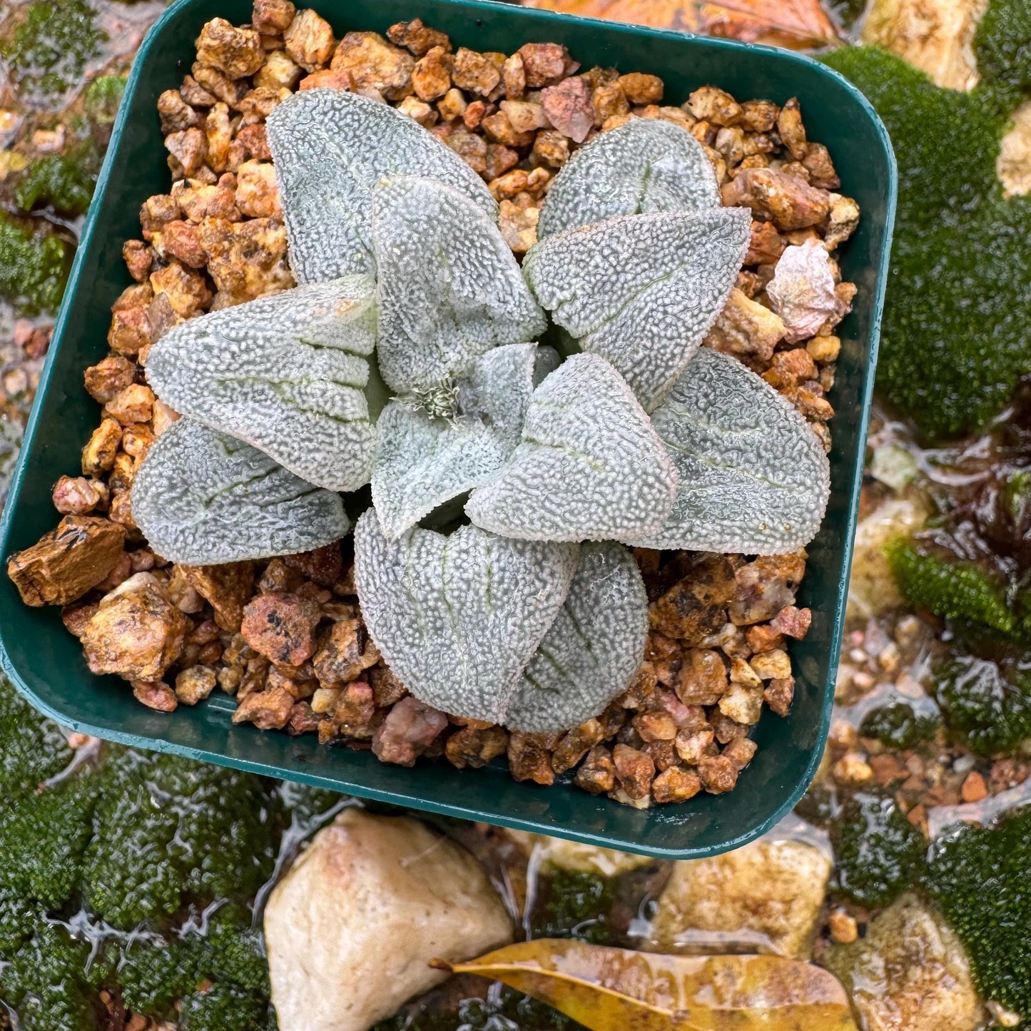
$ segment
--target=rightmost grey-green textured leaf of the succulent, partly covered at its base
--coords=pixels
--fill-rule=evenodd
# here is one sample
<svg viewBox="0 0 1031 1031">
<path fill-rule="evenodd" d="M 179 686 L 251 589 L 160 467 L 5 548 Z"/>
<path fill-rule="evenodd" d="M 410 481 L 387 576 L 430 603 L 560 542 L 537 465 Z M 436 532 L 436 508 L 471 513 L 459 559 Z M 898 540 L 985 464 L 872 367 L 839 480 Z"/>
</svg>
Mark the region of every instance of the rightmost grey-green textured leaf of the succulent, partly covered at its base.
<svg viewBox="0 0 1031 1031">
<path fill-rule="evenodd" d="M 652 422 L 680 487 L 666 525 L 627 543 L 776 555 L 816 536 L 830 494 L 823 445 L 736 359 L 702 347 Z"/>
</svg>

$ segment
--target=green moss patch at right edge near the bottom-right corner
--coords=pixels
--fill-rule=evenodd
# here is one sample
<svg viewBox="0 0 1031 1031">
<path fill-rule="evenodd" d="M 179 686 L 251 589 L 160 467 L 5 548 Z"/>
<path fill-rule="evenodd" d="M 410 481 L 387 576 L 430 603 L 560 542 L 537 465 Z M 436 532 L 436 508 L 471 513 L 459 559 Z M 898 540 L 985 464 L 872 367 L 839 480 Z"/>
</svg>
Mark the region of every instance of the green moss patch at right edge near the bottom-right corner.
<svg viewBox="0 0 1031 1031">
<path fill-rule="evenodd" d="M 1031 808 L 992 829 L 955 829 L 932 851 L 927 887 L 966 945 L 982 995 L 1031 1016 Z"/>
</svg>

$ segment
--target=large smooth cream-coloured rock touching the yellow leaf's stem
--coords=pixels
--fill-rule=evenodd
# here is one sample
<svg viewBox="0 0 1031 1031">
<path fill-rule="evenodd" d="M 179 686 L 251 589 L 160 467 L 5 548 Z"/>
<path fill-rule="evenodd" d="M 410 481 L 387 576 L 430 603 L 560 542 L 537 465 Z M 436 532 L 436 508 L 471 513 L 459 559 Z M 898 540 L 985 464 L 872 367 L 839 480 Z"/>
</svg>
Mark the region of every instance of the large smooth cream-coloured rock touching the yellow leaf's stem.
<svg viewBox="0 0 1031 1031">
<path fill-rule="evenodd" d="M 280 1031 L 366 1031 L 444 979 L 428 963 L 511 940 L 463 849 L 408 817 L 346 809 L 320 831 L 265 910 Z"/>
</svg>

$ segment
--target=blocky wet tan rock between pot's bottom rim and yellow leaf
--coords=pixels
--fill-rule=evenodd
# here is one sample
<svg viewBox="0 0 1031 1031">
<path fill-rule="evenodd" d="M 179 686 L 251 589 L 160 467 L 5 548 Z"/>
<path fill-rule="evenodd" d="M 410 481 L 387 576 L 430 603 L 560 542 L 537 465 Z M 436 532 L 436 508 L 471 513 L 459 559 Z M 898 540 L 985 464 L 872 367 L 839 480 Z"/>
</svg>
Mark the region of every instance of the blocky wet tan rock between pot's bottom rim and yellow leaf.
<svg viewBox="0 0 1031 1031">
<path fill-rule="evenodd" d="M 830 860 L 801 841 L 760 840 L 673 865 L 652 922 L 652 952 L 746 951 L 807 959 Z"/>
</svg>

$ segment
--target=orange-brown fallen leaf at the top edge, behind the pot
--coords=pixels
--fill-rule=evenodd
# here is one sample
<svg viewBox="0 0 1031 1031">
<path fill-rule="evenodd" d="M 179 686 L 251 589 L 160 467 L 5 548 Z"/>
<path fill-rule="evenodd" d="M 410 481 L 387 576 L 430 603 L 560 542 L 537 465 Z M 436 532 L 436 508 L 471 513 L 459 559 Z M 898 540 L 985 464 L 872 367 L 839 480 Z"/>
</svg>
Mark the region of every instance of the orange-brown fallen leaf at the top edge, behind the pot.
<svg viewBox="0 0 1031 1031">
<path fill-rule="evenodd" d="M 524 6 L 793 48 L 840 42 L 820 0 L 523 0 Z"/>
</svg>

